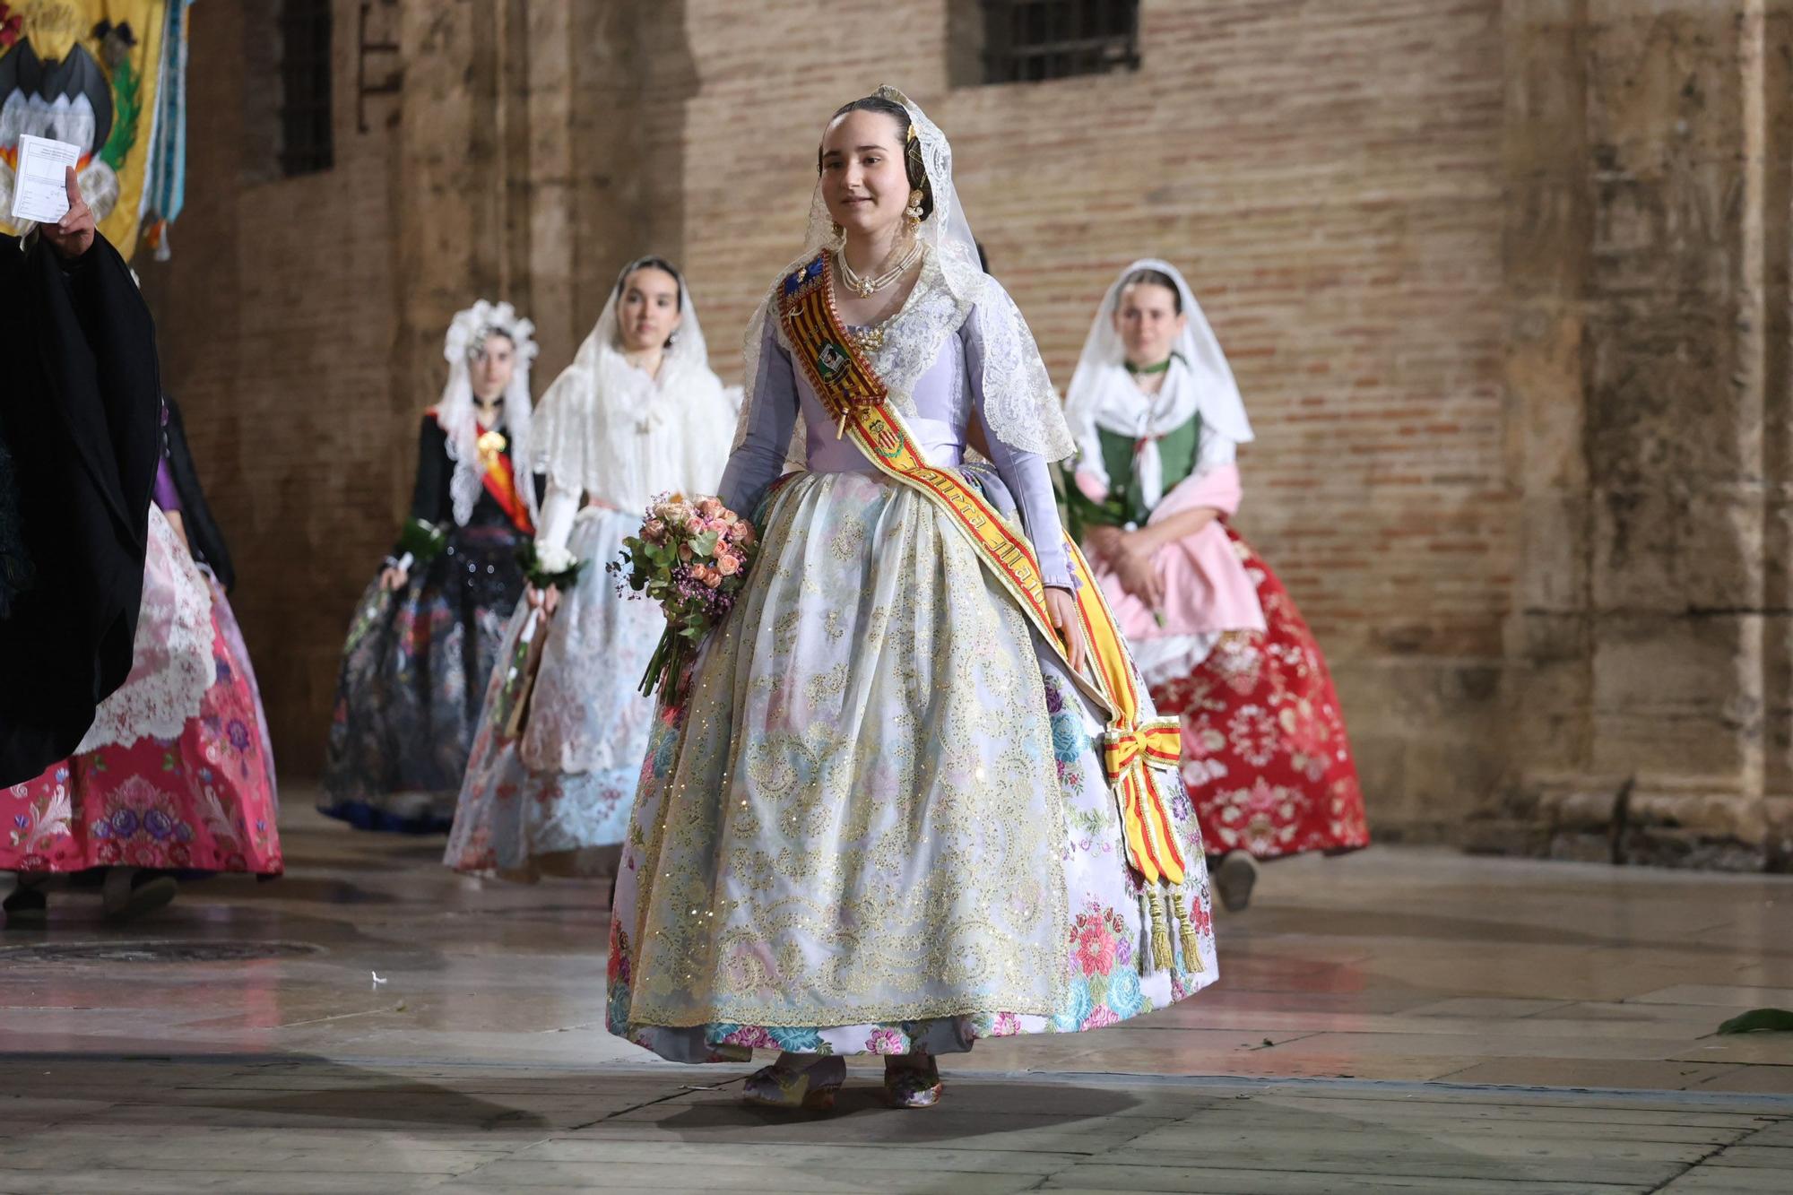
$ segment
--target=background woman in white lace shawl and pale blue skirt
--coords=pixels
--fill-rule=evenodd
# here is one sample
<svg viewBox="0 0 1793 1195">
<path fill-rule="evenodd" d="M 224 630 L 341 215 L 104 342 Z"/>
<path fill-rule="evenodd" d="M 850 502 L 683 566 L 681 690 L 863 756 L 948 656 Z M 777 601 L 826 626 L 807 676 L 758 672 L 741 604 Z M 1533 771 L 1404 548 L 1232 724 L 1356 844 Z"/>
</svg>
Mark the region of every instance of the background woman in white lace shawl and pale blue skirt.
<svg viewBox="0 0 1793 1195">
<path fill-rule="evenodd" d="M 533 427 L 531 465 L 547 475 L 536 558 L 585 565 L 567 594 L 531 589 L 511 617 L 448 867 L 506 879 L 615 874 L 654 716 L 642 671 L 665 617 L 619 594 L 604 565 L 656 493 L 715 490 L 739 407 L 739 391 L 710 371 L 678 267 L 658 257 L 624 266 Z"/>
</svg>

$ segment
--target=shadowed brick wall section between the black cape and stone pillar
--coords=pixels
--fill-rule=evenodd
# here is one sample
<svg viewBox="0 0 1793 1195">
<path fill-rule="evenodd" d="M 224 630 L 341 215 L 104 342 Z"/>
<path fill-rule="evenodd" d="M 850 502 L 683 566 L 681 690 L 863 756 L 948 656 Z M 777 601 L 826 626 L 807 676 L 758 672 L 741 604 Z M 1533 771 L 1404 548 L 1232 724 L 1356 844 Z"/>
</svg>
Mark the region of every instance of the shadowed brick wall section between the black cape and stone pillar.
<svg viewBox="0 0 1793 1195">
<path fill-rule="evenodd" d="M 350 612 L 409 493 L 421 407 L 393 393 L 391 135 L 382 111 L 371 135 L 355 129 L 357 5 L 335 11 L 335 169 L 292 179 L 267 122 L 246 122 L 258 111 L 246 97 L 273 83 L 244 63 L 265 61 L 276 11 L 194 9 L 186 210 L 174 258 L 136 266 L 237 563 L 231 606 L 276 757 L 305 775 Z"/>
</svg>

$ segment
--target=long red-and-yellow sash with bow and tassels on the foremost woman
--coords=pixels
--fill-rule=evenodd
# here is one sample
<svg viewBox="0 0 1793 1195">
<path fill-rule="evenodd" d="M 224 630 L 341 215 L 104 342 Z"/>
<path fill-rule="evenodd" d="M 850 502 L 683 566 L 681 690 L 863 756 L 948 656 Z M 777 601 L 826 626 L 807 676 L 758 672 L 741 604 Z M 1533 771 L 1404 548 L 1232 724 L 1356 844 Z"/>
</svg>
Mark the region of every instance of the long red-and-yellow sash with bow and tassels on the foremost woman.
<svg viewBox="0 0 1793 1195">
<path fill-rule="evenodd" d="M 879 472 L 920 492 L 948 515 L 948 522 L 977 549 L 977 558 L 1033 621 L 1040 637 L 1058 650 L 1065 673 L 1106 712 L 1103 763 L 1121 811 L 1126 858 L 1142 881 L 1149 906 L 1153 965 L 1171 967 L 1167 920 L 1174 919 L 1183 969 L 1200 971 L 1196 931 L 1182 901 L 1187 861 L 1156 775 L 1174 772 L 1182 754 L 1182 730 L 1174 718 L 1140 716 L 1139 673 L 1083 553 L 1065 538 L 1065 554 L 1078 580 L 1078 619 L 1090 646 L 1083 671 L 1074 671 L 1045 605 L 1045 583 L 1033 542 L 959 470 L 927 463 L 902 416 L 891 409 L 889 388 L 841 325 L 827 253 L 784 280 L 778 319 L 793 359 L 830 418 L 841 423 L 843 436 Z"/>
</svg>

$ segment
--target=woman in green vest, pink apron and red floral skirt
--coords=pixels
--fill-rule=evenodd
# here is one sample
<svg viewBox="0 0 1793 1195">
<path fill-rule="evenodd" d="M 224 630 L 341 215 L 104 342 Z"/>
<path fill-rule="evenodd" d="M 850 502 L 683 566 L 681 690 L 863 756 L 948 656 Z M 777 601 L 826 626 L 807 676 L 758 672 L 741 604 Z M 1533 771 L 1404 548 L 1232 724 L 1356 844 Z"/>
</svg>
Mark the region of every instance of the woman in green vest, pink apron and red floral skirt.
<svg viewBox="0 0 1793 1195">
<path fill-rule="evenodd" d="M 1174 266 L 1108 289 L 1070 379 L 1081 540 L 1160 712 L 1183 723 L 1183 782 L 1221 903 L 1244 908 L 1257 859 L 1370 842 L 1320 644 L 1226 520 L 1252 423 Z"/>
</svg>

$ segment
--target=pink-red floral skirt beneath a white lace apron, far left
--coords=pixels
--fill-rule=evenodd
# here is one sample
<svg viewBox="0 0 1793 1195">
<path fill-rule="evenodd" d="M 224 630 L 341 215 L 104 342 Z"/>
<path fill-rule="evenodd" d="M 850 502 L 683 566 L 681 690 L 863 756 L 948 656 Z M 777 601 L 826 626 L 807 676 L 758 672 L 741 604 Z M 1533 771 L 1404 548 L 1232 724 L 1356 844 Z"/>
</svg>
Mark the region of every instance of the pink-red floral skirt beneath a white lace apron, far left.
<svg viewBox="0 0 1793 1195">
<path fill-rule="evenodd" d="M 206 583 L 215 678 L 199 712 L 178 736 L 97 746 L 0 789 L 0 870 L 282 872 L 262 698 L 224 590 Z"/>
</svg>

